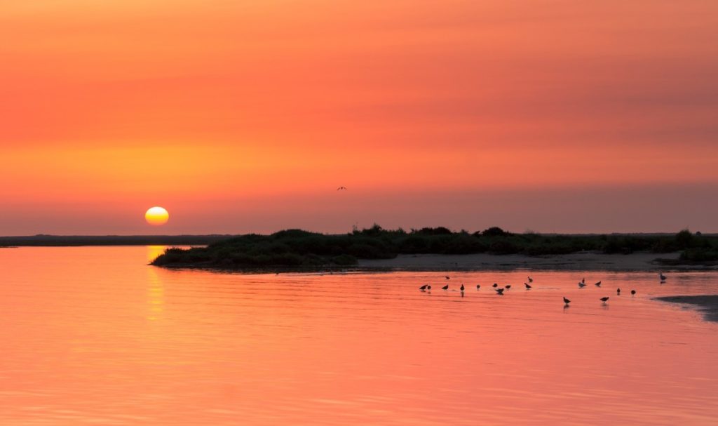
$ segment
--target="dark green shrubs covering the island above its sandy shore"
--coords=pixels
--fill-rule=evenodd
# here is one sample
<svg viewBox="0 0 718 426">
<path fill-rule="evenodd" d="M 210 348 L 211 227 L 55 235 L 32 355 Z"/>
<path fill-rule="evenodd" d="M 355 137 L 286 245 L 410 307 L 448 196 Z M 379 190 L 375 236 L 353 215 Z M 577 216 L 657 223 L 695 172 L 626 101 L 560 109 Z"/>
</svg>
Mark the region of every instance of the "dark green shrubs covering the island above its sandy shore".
<svg viewBox="0 0 718 426">
<path fill-rule="evenodd" d="M 271 269 L 350 267 L 358 259 L 393 259 L 398 254 L 525 254 L 543 256 L 598 251 L 656 254 L 682 251 L 682 262 L 718 261 L 718 236 L 688 230 L 669 234 L 567 235 L 485 231 L 454 232 L 448 228 L 404 231 L 374 225 L 351 233 L 327 235 L 289 229 L 271 235 L 248 234 L 206 247 L 167 249 L 151 264 L 161 267 Z"/>
</svg>

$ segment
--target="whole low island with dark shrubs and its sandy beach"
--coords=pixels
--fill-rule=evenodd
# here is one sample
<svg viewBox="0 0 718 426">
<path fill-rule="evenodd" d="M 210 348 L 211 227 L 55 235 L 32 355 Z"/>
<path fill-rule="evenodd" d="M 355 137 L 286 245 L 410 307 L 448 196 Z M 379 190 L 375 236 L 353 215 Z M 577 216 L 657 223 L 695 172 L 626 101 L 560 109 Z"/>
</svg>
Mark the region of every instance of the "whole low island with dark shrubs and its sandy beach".
<svg viewBox="0 0 718 426">
<path fill-rule="evenodd" d="M 235 236 L 205 247 L 170 248 L 151 264 L 169 268 L 238 270 L 348 267 L 439 270 L 480 269 L 481 259 L 493 256 L 493 263 L 498 263 L 498 267 L 502 262 L 495 259 L 519 259 L 513 263 L 509 261 L 510 267 L 546 265 L 565 269 L 576 263 L 580 269 L 587 269 L 587 259 L 597 255 L 618 255 L 614 256 L 618 258 L 632 254 L 638 256 L 634 256 L 635 259 L 640 259 L 638 267 L 622 267 L 625 262 L 618 262 L 615 268 L 597 269 L 648 269 L 643 264 L 656 268 L 716 267 L 718 236 L 688 230 L 676 234 L 600 235 L 511 233 L 498 227 L 473 233 L 454 232 L 444 227 L 404 231 L 401 228 L 388 230 L 375 224 L 345 234 L 289 229 L 271 235 Z M 584 263 L 572 260 L 571 256 L 584 259 Z"/>
</svg>

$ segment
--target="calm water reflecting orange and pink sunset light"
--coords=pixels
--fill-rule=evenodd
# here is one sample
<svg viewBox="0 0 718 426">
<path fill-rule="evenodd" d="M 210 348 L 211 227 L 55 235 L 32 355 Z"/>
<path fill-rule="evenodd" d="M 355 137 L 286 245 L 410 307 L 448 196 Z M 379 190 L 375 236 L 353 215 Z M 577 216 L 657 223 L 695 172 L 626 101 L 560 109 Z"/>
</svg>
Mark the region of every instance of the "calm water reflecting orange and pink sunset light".
<svg viewBox="0 0 718 426">
<path fill-rule="evenodd" d="M 462 297 L 434 272 L 146 266 L 161 251 L 0 249 L 0 425 L 718 424 L 718 325 L 651 300 L 716 272 L 450 273 Z"/>
</svg>

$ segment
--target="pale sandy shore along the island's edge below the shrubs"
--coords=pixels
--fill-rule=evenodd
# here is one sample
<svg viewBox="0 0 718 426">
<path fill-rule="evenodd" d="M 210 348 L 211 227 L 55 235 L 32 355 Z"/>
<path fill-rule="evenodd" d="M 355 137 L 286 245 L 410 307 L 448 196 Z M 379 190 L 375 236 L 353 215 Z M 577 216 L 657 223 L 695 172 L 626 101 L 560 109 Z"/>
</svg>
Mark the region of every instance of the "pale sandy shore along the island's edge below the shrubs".
<svg viewBox="0 0 718 426">
<path fill-rule="evenodd" d="M 602 254 L 582 252 L 554 256 L 521 254 L 400 254 L 395 259 L 360 260 L 360 268 L 420 270 L 471 269 L 560 269 L 575 271 L 657 271 L 667 269 L 708 269 L 707 267 L 666 267 L 656 258 L 678 259 L 679 253 Z"/>
</svg>

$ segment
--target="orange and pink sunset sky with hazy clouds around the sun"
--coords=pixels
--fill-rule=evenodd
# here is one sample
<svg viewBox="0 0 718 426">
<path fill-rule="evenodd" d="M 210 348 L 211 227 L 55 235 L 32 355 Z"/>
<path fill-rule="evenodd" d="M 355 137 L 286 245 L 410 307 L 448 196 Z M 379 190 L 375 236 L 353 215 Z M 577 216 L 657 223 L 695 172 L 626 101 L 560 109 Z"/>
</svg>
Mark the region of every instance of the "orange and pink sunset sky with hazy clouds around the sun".
<svg viewBox="0 0 718 426">
<path fill-rule="evenodd" d="M 0 1 L 0 39 L 0 235 L 718 232 L 714 0 Z"/>
</svg>

